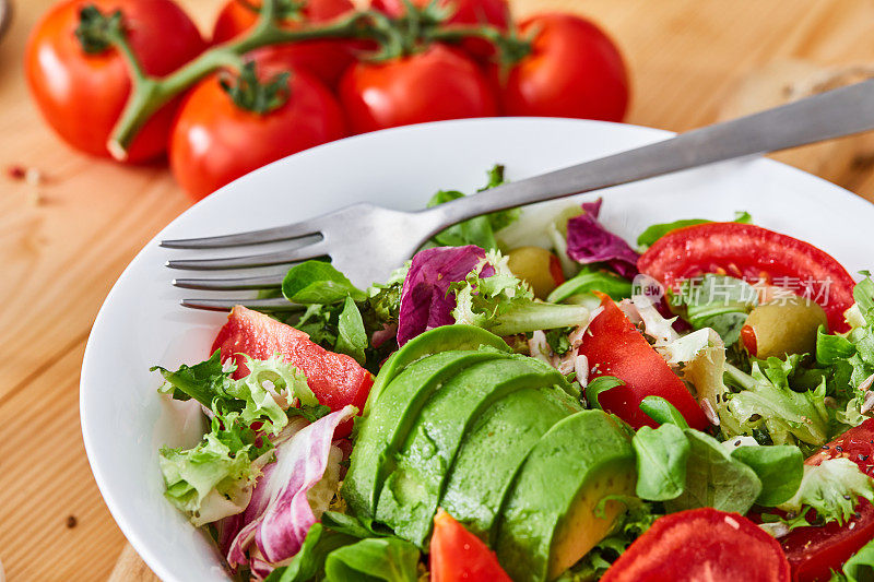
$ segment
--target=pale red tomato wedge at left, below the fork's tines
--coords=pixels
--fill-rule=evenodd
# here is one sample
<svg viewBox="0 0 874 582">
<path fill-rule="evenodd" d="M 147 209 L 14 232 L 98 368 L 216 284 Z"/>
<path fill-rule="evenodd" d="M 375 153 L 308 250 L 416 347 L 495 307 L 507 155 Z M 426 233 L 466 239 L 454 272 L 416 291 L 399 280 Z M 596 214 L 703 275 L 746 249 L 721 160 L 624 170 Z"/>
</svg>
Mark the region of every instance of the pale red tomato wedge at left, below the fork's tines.
<svg viewBox="0 0 874 582">
<path fill-rule="evenodd" d="M 285 361 L 307 377 L 307 384 L 331 411 L 353 404 L 364 408 L 374 378 L 350 356 L 328 352 L 309 341 L 306 333 L 276 321 L 263 313 L 236 306 L 221 329 L 212 352 L 222 351 L 222 360 L 233 358 L 239 368 L 234 373 L 240 378 L 249 373 L 240 354 L 267 359 L 281 354 Z M 352 424 L 341 425 L 336 436 L 345 437 Z"/>
</svg>

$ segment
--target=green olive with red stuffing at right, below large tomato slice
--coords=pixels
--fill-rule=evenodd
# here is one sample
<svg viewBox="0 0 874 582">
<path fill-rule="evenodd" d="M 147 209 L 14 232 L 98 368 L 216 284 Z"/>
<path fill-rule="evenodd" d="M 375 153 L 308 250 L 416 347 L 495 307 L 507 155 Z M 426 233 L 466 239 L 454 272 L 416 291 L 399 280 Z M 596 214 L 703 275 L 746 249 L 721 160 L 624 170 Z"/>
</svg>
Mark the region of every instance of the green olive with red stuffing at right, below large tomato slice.
<svg viewBox="0 0 874 582">
<path fill-rule="evenodd" d="M 757 358 L 812 354 L 816 348 L 816 330 L 826 324 L 826 312 L 817 304 L 789 297 L 753 309 L 741 329 L 741 340 Z"/>
</svg>

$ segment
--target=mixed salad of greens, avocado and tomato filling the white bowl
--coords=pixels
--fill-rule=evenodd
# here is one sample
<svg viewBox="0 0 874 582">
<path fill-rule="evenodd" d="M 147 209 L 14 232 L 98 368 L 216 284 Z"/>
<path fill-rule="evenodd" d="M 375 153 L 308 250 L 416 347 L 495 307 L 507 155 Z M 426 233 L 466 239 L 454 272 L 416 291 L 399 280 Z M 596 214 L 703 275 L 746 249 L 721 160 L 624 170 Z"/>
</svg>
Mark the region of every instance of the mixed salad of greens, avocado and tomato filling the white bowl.
<svg viewBox="0 0 874 582">
<path fill-rule="evenodd" d="M 495 166 L 485 188 L 504 180 Z M 208 359 L 153 368 L 158 392 L 205 425 L 192 447 L 160 451 L 168 501 L 244 580 L 461 580 L 450 574 L 473 562 L 480 579 L 614 580 L 646 561 L 653 523 L 701 508 L 772 536 L 776 568 L 871 579 L 874 542 L 858 532 L 874 532 L 874 281 L 863 273 L 836 328 L 832 306 L 781 287 L 755 257 L 711 248 L 682 258 L 682 277 L 657 268 L 676 260 L 659 254 L 672 239 L 704 247 L 697 228 L 733 233 L 748 213 L 651 225 L 631 245 L 601 207 L 557 211 L 551 248 L 507 244 L 530 228 L 518 210 L 466 221 L 367 288 L 328 262 L 293 265 L 271 293 L 300 312 L 235 308 Z M 439 423 L 461 427 L 456 440 Z M 591 432 L 566 437 L 577 425 Z M 576 464 L 543 452 L 574 447 Z M 532 492 L 529 464 L 555 472 L 555 490 Z M 548 518 L 577 477 L 610 477 L 591 499 L 572 488 L 572 503 L 591 503 L 586 543 Z M 456 515 L 397 521 L 432 502 Z M 506 542 L 517 510 L 540 516 Z M 810 549 L 826 527 L 850 554 Z M 751 575 L 765 567 L 749 561 Z"/>
</svg>

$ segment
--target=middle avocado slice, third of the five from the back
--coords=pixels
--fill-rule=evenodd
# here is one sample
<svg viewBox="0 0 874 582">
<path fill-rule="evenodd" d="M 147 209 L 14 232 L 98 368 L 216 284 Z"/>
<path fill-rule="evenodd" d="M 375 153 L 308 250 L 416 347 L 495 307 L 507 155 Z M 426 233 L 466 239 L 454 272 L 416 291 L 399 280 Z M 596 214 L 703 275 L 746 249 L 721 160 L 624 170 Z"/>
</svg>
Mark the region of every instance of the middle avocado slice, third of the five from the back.
<svg viewBox="0 0 874 582">
<path fill-rule="evenodd" d="M 424 547 L 445 477 L 468 428 L 505 395 L 563 380 L 555 369 L 527 356 L 485 361 L 458 373 L 432 395 L 393 462 L 387 463 L 393 466 L 385 473 L 376 520 Z"/>
</svg>

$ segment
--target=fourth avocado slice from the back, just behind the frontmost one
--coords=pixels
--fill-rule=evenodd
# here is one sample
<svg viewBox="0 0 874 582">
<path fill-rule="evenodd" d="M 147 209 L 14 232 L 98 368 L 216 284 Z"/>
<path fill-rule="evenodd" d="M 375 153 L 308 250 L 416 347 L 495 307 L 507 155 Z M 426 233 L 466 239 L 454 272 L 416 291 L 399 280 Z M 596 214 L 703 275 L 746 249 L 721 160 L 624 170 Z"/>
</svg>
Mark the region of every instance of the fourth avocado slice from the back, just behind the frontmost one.
<svg viewBox="0 0 874 582">
<path fill-rule="evenodd" d="M 440 507 L 491 543 L 487 537 L 519 465 L 555 423 L 581 409 L 556 387 L 520 390 L 496 402 L 464 437 Z"/>
</svg>

